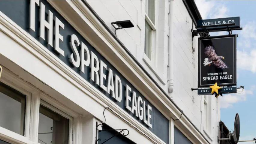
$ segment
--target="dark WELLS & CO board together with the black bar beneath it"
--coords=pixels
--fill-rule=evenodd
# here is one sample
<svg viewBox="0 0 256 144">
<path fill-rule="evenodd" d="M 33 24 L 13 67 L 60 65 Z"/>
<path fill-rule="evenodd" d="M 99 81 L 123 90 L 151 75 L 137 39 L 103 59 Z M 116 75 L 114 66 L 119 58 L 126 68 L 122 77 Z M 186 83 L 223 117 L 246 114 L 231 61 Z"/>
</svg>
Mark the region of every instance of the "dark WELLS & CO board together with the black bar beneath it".
<svg viewBox="0 0 256 144">
<path fill-rule="evenodd" d="M 227 29 L 240 29 L 240 17 L 227 17 L 219 19 L 199 19 L 197 20 L 197 31 L 218 32 Z"/>
</svg>

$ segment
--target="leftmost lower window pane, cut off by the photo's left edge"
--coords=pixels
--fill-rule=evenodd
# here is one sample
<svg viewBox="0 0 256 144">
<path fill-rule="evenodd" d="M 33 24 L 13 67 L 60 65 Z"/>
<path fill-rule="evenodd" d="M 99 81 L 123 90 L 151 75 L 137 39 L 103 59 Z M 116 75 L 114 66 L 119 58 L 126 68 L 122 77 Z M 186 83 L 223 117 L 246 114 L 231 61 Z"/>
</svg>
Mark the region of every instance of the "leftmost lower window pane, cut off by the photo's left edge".
<svg viewBox="0 0 256 144">
<path fill-rule="evenodd" d="M 24 136 L 26 96 L 0 82 L 0 126 Z"/>
</svg>

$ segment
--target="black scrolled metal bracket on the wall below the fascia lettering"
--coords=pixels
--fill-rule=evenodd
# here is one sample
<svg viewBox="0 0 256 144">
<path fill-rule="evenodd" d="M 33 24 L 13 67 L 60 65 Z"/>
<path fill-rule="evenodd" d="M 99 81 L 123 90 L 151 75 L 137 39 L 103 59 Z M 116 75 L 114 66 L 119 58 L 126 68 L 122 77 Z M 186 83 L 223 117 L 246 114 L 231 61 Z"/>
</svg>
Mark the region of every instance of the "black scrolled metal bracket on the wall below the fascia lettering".
<svg viewBox="0 0 256 144">
<path fill-rule="evenodd" d="M 95 144 L 98 144 L 98 141 L 101 141 L 101 139 L 98 139 L 98 132 L 101 132 L 101 131 L 117 131 L 118 133 L 116 133 L 116 134 L 114 134 L 112 137 L 110 137 L 110 138 L 108 138 L 107 140 L 105 140 L 104 142 L 102 142 L 101 144 L 103 144 L 103 143 L 106 143 L 108 140 L 110 140 L 110 139 L 112 139 L 113 137 L 115 137 L 115 136 L 117 136 L 117 135 L 119 135 L 119 134 L 122 134 L 123 136 L 127 136 L 128 134 L 129 134 L 129 130 L 127 130 L 127 129 L 110 129 L 110 130 L 103 130 L 103 129 L 101 129 L 101 130 L 99 130 L 99 126 L 101 126 L 101 128 L 102 128 L 102 126 L 103 126 L 103 124 L 106 122 L 106 117 L 105 117 L 105 110 L 107 109 L 108 107 L 106 107 L 105 109 L 104 109 L 104 111 L 103 111 L 103 116 L 104 116 L 104 119 L 105 119 L 105 121 L 104 122 L 102 122 L 102 124 L 99 124 L 98 125 L 98 122 L 96 122 L 96 141 L 95 141 Z M 109 109 L 109 108 L 108 108 Z M 109 109 L 109 110 L 111 110 L 111 109 Z M 112 111 L 112 110 L 111 110 Z M 127 133 L 126 133 L 127 132 Z"/>
</svg>

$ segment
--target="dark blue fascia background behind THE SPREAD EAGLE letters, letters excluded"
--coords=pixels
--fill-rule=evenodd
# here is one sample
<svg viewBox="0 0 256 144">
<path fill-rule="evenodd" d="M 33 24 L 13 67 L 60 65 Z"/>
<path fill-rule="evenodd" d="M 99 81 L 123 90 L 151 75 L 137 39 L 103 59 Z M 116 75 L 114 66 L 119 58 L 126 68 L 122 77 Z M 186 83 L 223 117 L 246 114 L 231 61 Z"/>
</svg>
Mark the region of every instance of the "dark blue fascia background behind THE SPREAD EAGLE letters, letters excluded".
<svg viewBox="0 0 256 144">
<path fill-rule="evenodd" d="M 91 85 L 93 85 L 95 88 L 97 88 L 99 91 L 101 91 L 107 98 L 111 99 L 115 102 L 119 107 L 124 109 L 127 113 L 129 113 L 131 116 L 134 117 L 137 121 L 141 123 L 141 125 L 144 125 L 146 128 L 148 128 L 150 131 L 152 131 L 156 136 L 158 136 L 161 140 L 163 140 L 165 143 L 169 143 L 169 120 L 160 113 L 149 101 L 127 80 L 124 76 L 122 76 L 119 71 L 116 70 L 115 67 L 112 66 L 105 58 L 102 56 L 94 47 L 92 47 L 86 39 L 82 37 L 47 1 L 40 1 L 45 5 L 45 15 L 46 19 L 48 15 L 48 10 L 50 10 L 53 13 L 53 18 L 55 16 L 58 17 L 58 19 L 64 23 L 65 30 L 60 29 L 60 34 L 64 37 L 64 42 L 59 42 L 59 47 L 65 51 L 65 57 L 62 55 L 59 55 L 53 47 L 47 44 L 47 30 L 45 31 L 45 37 L 46 40 L 44 41 L 42 38 L 39 38 L 39 7 L 35 6 L 35 30 L 36 32 L 29 29 L 29 5 L 30 1 L 0 1 L 0 11 L 7 15 L 10 19 L 12 19 L 15 23 L 17 23 L 22 29 L 24 29 L 26 32 L 28 32 L 29 35 L 32 35 L 37 41 L 39 41 L 41 44 L 43 44 L 50 52 L 52 52 L 54 55 L 56 55 L 60 60 L 62 60 L 68 67 L 71 67 L 76 73 L 78 73 L 80 76 L 82 76 L 86 81 L 88 81 Z M 54 20 L 53 20 L 54 23 Z M 55 25 L 55 24 L 54 24 Z M 88 47 L 89 51 L 92 51 L 97 55 L 99 61 L 102 60 L 105 64 L 107 64 L 107 69 L 113 70 L 113 75 L 117 74 L 121 81 L 122 81 L 122 101 L 118 102 L 116 101 L 111 95 L 109 95 L 107 92 L 105 92 L 103 89 L 101 89 L 95 82 L 90 80 L 90 67 L 85 67 L 85 73 L 81 72 L 79 68 L 74 67 L 71 62 L 69 61 L 69 57 L 72 53 L 71 47 L 70 47 L 70 38 L 71 35 L 75 34 L 80 42 L 83 42 Z M 53 36 L 54 38 L 54 36 Z M 53 43 L 55 40 L 53 40 Z M 8 48 L 8 47 L 6 47 Z M 102 47 L 102 49 L 105 49 L 107 47 Z M 80 48 L 78 47 L 78 51 L 80 52 Z M 28 62 L 29 64 L 29 62 Z M 105 70 L 104 73 L 108 75 L 108 70 Z M 106 82 L 106 81 L 105 81 Z M 152 128 L 148 127 L 146 124 L 143 123 L 143 121 L 139 120 L 133 113 L 129 112 L 125 109 L 125 85 L 128 84 L 133 91 L 136 92 L 137 97 L 141 97 L 143 101 L 146 102 L 146 104 L 149 104 L 152 107 Z M 106 84 L 105 84 L 106 85 Z M 131 95 L 131 93 L 130 93 Z M 86 102 L 85 102 L 86 104 Z M 131 105 L 131 104 L 130 104 Z M 147 110 L 147 107 L 146 107 Z"/>
</svg>

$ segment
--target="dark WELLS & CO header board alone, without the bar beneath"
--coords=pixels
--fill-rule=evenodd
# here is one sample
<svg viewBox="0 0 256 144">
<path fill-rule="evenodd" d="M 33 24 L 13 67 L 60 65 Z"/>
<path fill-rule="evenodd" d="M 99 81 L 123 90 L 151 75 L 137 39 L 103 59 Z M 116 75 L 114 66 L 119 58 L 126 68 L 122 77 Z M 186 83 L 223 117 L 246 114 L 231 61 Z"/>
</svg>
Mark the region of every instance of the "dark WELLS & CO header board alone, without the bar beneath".
<svg viewBox="0 0 256 144">
<path fill-rule="evenodd" d="M 227 18 L 220 18 L 220 19 L 199 19 L 197 21 L 197 27 L 201 26 L 213 26 L 216 27 L 218 25 L 223 24 L 234 24 L 231 27 L 240 27 L 240 17 L 227 17 Z M 225 28 L 227 26 L 224 26 Z"/>
</svg>

